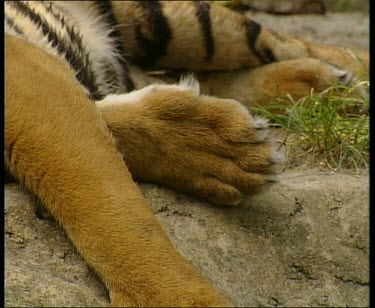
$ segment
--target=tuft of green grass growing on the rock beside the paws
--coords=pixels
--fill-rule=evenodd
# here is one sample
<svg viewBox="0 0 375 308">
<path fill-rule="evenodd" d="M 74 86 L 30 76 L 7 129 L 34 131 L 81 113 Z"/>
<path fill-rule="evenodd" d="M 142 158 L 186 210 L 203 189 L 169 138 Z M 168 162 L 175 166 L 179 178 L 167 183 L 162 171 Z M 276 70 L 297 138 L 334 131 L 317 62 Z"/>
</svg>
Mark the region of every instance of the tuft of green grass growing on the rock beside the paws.
<svg viewBox="0 0 375 308">
<path fill-rule="evenodd" d="M 368 108 L 368 98 L 358 94 L 359 86 L 366 88 L 368 84 L 331 86 L 297 101 L 286 94 L 277 98 L 275 105 L 258 106 L 252 111 L 270 119 L 271 126 L 286 131 L 281 146 L 286 146 L 289 163 L 308 155 L 333 170 L 368 168 L 369 116 L 356 108 Z"/>
</svg>

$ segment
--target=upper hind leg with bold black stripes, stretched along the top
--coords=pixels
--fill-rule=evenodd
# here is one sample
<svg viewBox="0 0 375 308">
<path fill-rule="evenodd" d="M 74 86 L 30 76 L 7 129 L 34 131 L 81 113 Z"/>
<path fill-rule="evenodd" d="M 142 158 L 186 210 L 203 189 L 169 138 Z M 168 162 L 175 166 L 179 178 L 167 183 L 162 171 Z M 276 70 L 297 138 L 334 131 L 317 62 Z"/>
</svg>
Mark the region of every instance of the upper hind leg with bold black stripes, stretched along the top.
<svg viewBox="0 0 375 308">
<path fill-rule="evenodd" d="M 282 35 L 214 3 L 113 1 L 112 8 L 126 54 L 143 66 L 234 70 L 315 58 L 356 73 L 368 64 L 367 52 Z"/>
</svg>

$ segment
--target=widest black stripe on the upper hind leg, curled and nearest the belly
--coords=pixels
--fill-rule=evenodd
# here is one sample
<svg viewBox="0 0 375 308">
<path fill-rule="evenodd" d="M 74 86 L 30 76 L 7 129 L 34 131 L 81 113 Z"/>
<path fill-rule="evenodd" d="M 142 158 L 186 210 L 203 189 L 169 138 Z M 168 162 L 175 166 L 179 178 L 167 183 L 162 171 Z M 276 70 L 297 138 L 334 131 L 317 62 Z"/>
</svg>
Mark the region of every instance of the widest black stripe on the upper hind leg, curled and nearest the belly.
<svg viewBox="0 0 375 308">
<path fill-rule="evenodd" d="M 148 11 L 148 26 L 151 27 L 153 38 L 147 38 L 141 30 L 141 25 L 135 27 L 135 39 L 145 52 L 145 57 L 136 59 L 140 65 L 152 65 L 165 55 L 172 32 L 165 19 L 159 1 L 138 1 L 141 7 Z"/>
</svg>

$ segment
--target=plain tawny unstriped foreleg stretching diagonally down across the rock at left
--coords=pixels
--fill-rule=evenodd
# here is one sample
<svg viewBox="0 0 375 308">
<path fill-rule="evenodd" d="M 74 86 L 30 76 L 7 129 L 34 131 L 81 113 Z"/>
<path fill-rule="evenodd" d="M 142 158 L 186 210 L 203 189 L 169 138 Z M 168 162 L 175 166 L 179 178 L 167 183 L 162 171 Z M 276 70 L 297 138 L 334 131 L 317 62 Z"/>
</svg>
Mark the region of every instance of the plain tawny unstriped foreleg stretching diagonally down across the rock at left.
<svg viewBox="0 0 375 308">
<path fill-rule="evenodd" d="M 6 164 L 66 230 L 114 306 L 226 306 L 174 250 L 70 68 L 6 36 Z"/>
</svg>

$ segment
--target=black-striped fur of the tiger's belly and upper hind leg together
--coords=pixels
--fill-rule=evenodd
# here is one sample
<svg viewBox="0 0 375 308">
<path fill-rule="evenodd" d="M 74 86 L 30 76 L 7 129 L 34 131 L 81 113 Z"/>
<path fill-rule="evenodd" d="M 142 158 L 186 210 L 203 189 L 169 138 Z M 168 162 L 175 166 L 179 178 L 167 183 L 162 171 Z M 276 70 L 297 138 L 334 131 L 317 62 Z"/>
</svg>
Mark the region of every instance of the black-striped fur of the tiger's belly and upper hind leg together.
<svg viewBox="0 0 375 308">
<path fill-rule="evenodd" d="M 305 57 L 343 62 L 336 51 L 320 55 L 322 46 L 204 1 L 9 1 L 5 15 L 8 33 L 64 58 L 94 99 L 135 88 L 128 62 L 195 71 Z"/>
</svg>

